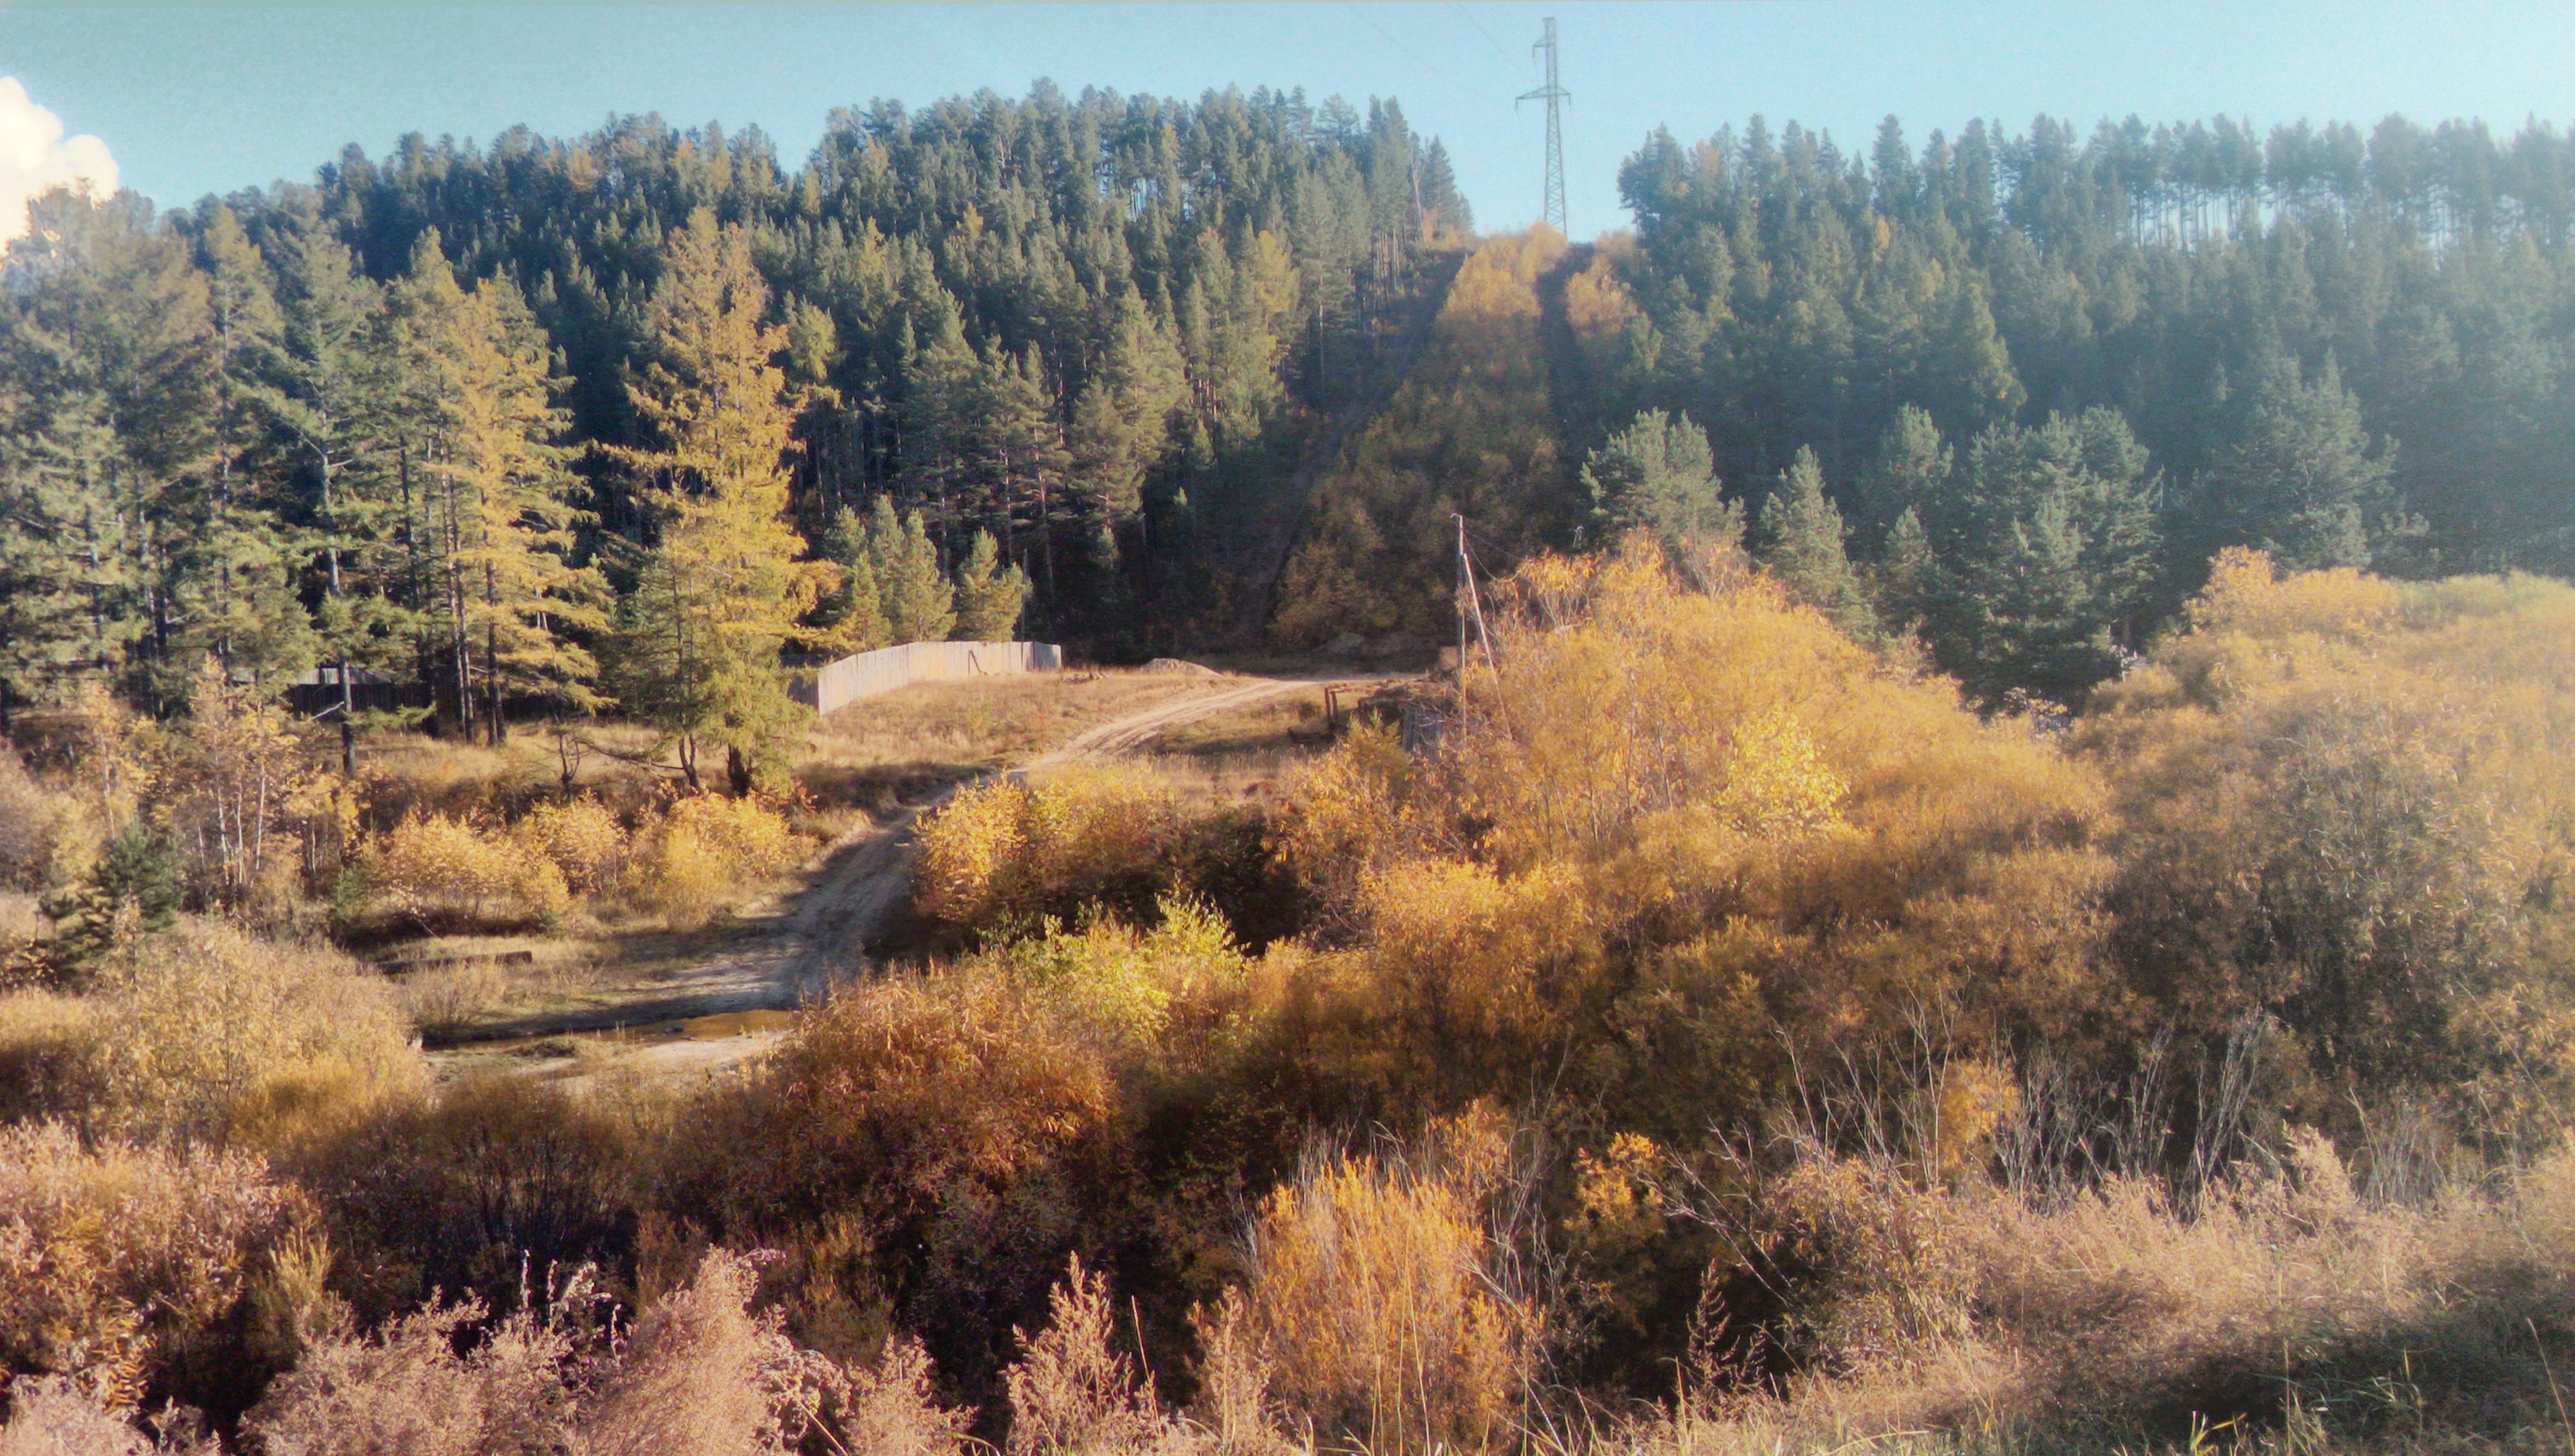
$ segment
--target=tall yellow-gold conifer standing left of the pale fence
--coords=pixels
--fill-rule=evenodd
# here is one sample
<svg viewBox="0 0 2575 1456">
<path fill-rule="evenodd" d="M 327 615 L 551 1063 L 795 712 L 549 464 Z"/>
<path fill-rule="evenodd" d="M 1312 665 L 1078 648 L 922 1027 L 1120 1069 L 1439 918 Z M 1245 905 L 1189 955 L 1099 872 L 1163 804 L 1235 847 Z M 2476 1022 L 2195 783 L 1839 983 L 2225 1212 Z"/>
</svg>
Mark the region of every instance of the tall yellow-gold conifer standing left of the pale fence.
<svg viewBox="0 0 2575 1456">
<path fill-rule="evenodd" d="M 749 234 L 700 208 L 670 237 L 651 360 L 626 386 L 654 445 L 621 458 L 659 540 L 618 605 L 615 684 L 677 743 L 690 787 L 700 741 L 726 749 L 736 792 L 783 774 L 801 710 L 780 651 L 832 581 L 785 520 L 785 329 L 762 324 L 767 306 Z"/>
</svg>

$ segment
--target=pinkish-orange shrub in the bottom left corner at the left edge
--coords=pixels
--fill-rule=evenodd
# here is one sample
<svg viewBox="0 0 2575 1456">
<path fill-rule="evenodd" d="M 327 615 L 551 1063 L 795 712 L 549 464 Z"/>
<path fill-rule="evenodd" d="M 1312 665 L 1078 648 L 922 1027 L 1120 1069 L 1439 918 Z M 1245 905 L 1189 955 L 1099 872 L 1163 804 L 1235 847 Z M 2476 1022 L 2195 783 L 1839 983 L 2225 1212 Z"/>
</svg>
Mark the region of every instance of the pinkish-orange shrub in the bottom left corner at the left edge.
<svg viewBox="0 0 2575 1456">
<path fill-rule="evenodd" d="M 247 1307 L 314 1224 L 250 1152 L 0 1127 L 0 1371 L 72 1376 L 118 1410 L 239 1410 L 265 1376 Z"/>
</svg>

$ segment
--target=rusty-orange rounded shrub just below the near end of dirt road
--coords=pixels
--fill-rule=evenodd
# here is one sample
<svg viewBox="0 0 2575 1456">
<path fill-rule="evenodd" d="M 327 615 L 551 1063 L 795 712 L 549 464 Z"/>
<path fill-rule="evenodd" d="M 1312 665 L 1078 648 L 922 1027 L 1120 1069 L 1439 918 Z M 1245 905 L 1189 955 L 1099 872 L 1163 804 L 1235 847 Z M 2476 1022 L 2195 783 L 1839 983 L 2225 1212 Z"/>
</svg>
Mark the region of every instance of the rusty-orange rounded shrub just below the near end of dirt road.
<svg viewBox="0 0 2575 1456">
<path fill-rule="evenodd" d="M 850 985 L 680 1119 L 672 1214 L 791 1250 L 791 1304 L 837 1320 L 883 1304 L 981 1389 L 1115 1204 L 1115 1050 L 1007 975 Z"/>
</svg>

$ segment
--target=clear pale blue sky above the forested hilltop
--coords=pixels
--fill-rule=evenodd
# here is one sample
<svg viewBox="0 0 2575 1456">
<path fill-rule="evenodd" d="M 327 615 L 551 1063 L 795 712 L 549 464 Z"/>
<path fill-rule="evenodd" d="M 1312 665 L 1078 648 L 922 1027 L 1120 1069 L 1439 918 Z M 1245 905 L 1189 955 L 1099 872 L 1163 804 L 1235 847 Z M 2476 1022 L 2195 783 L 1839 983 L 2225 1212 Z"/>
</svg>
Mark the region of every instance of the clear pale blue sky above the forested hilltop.
<svg viewBox="0 0 2575 1456">
<path fill-rule="evenodd" d="M 610 111 L 760 123 L 801 162 L 834 105 L 912 105 L 1038 77 L 1066 90 L 1197 95 L 1303 85 L 1396 95 L 1447 139 L 1478 221 L 1537 214 L 1530 41 L 1563 36 L 1573 232 L 1620 226 L 1617 162 L 1656 123 L 1681 136 L 1764 113 L 1867 144 L 1885 113 L 1918 144 L 1970 116 L 2217 111 L 2575 121 L 2575 3 L 1409 3 L 1409 5 L 471 5 L 471 8 L 15 8 L 0 0 L 0 77 L 72 134 L 95 134 L 124 185 L 162 203 L 309 177 L 348 141 L 404 131 L 546 134 Z"/>
</svg>

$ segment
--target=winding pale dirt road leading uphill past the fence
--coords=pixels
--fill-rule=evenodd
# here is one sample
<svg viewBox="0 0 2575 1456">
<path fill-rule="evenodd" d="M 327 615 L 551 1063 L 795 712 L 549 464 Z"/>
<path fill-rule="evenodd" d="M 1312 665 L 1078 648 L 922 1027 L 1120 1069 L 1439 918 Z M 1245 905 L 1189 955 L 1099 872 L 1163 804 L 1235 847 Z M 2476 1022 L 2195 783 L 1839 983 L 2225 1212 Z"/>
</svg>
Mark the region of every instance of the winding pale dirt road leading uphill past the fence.
<svg viewBox="0 0 2575 1456">
<path fill-rule="evenodd" d="M 1087 728 L 1061 749 L 1040 754 L 1009 774 L 1128 754 L 1184 723 L 1339 679 L 1208 677 L 1200 682 L 1200 689 L 1182 697 Z M 512 1057 L 510 1050 L 525 1050 L 548 1037 L 618 1029 L 633 1034 L 639 1044 L 618 1055 L 615 1062 L 649 1070 L 713 1070 L 767 1047 L 783 1032 L 775 1016 L 762 1014 L 811 1006 L 834 983 L 868 970 L 868 942 L 912 887 L 914 823 L 953 795 L 955 787 L 948 787 L 845 833 L 824 849 L 821 864 L 803 890 L 747 918 L 749 934 L 742 942 L 657 978 L 646 993 L 615 1006 L 554 1011 L 487 1026 L 474 1042 L 440 1050 L 440 1062 L 445 1070 L 489 1065 L 497 1057 L 530 1062 L 530 1057 Z M 548 1070 L 546 1057 L 533 1062 L 528 1070 Z M 551 1070 L 572 1073 L 561 1057 L 554 1057 Z"/>
</svg>

